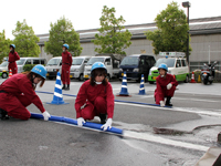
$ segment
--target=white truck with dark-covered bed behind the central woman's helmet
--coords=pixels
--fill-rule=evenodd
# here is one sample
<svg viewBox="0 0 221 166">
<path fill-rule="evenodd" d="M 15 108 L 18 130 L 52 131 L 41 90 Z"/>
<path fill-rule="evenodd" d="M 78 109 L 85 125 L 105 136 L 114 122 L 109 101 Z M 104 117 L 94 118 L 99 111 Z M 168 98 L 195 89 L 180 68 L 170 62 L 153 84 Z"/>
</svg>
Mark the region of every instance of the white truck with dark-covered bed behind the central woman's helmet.
<svg viewBox="0 0 221 166">
<path fill-rule="evenodd" d="M 114 79 L 114 77 L 118 77 L 118 73 L 119 73 L 119 64 L 122 62 L 122 60 L 125 58 L 126 55 L 122 55 L 122 54 L 108 54 L 108 53 L 104 53 L 104 54 L 96 54 L 95 56 L 92 56 L 90 59 L 90 61 L 86 63 L 85 69 L 84 69 L 84 80 L 87 80 L 91 77 L 91 69 L 92 65 L 95 62 L 103 62 L 106 65 L 107 69 L 107 80 Z"/>
</svg>

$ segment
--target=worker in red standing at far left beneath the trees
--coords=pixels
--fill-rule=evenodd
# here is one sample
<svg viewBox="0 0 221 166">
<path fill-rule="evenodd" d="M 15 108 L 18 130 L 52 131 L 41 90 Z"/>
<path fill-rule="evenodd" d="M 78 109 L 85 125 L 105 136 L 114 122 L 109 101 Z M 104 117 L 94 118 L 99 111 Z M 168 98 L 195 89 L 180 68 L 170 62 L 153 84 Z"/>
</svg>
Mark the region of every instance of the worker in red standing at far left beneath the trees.
<svg viewBox="0 0 221 166">
<path fill-rule="evenodd" d="M 8 69 L 9 71 L 12 71 L 12 74 L 17 74 L 18 73 L 18 68 L 17 68 L 17 62 L 18 60 L 20 60 L 19 54 L 14 51 L 15 45 L 11 44 L 10 45 L 10 53 L 9 53 L 9 65 Z"/>
</svg>

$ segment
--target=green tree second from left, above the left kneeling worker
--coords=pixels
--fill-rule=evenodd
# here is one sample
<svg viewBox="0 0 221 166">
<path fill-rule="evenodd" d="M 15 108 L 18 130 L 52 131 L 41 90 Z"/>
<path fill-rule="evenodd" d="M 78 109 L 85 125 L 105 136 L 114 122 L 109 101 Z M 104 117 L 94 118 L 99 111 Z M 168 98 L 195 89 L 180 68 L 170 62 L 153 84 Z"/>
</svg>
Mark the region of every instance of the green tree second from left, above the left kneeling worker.
<svg viewBox="0 0 221 166">
<path fill-rule="evenodd" d="M 15 51 L 20 56 L 39 56 L 40 48 L 38 42 L 40 40 L 34 34 L 32 27 L 27 24 L 25 20 L 17 22 L 17 28 L 12 31 L 12 34 L 14 35 Z"/>
</svg>

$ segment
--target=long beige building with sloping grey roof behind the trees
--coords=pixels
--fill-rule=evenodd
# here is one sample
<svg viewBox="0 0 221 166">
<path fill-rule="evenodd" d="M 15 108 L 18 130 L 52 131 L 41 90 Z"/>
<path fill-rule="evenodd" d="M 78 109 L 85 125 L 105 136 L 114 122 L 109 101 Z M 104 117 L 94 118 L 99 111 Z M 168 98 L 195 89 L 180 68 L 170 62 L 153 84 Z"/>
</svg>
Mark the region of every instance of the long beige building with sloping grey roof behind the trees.
<svg viewBox="0 0 221 166">
<path fill-rule="evenodd" d="M 146 39 L 144 34 L 147 30 L 155 30 L 155 23 L 125 25 L 131 33 L 131 45 L 125 50 L 126 54 L 135 53 L 152 53 L 151 41 Z M 83 48 L 81 55 L 95 55 L 94 43 L 91 42 L 94 39 L 95 33 L 98 33 L 97 29 L 80 30 L 80 42 Z M 190 45 L 192 52 L 190 55 L 191 70 L 200 69 L 206 62 L 219 61 L 217 65 L 218 70 L 221 70 L 221 17 L 202 18 L 190 20 Z M 40 34 L 39 45 L 41 48 L 40 56 L 50 60 L 52 55 L 44 52 L 44 41 L 49 40 L 49 34 Z M 156 56 L 157 59 L 158 56 Z"/>
</svg>

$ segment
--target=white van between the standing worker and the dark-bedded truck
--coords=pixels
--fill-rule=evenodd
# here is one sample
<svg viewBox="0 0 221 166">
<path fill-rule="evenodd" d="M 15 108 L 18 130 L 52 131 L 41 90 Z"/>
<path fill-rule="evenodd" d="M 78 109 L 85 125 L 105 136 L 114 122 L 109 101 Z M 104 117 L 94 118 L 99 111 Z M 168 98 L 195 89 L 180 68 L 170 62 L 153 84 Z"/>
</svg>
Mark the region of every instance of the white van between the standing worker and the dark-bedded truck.
<svg viewBox="0 0 221 166">
<path fill-rule="evenodd" d="M 88 62 L 91 56 L 75 56 L 72 61 L 70 77 L 84 80 L 84 66 Z"/>
</svg>

